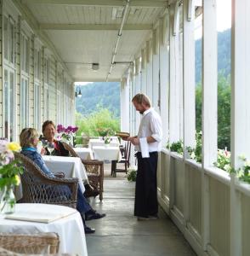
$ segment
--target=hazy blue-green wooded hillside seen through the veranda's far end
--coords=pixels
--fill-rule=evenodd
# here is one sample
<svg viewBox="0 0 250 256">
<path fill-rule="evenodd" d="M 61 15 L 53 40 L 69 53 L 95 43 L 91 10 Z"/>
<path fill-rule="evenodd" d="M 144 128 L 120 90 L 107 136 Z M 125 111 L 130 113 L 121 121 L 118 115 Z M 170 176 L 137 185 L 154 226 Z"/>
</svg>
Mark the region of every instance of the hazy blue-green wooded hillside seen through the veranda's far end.
<svg viewBox="0 0 250 256">
<path fill-rule="evenodd" d="M 120 118 L 120 83 L 96 82 L 81 85 L 82 97 L 76 98 L 78 113 L 87 116 L 99 108 L 107 108 L 116 118 Z"/>
</svg>

